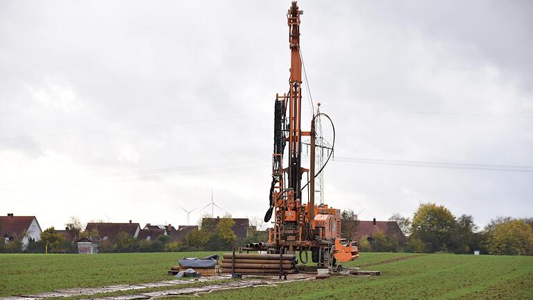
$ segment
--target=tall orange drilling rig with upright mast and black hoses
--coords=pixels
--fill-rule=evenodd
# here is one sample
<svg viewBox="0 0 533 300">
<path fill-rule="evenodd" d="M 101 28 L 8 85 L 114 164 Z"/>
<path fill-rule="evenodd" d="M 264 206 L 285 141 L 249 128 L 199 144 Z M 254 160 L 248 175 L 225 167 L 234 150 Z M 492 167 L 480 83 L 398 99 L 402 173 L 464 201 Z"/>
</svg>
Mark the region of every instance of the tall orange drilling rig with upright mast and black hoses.
<svg viewBox="0 0 533 300">
<path fill-rule="evenodd" d="M 312 261 L 321 266 L 335 266 L 359 256 L 357 242 L 341 238 L 341 211 L 327 204 L 314 203 L 315 178 L 323 171 L 323 165 L 315 172 L 316 130 L 315 122 L 325 117 L 314 113 L 310 131 L 301 129 L 302 103 L 302 59 L 300 51 L 300 16 L 296 1 L 287 12 L 289 25 L 289 48 L 291 69 L 289 92 L 276 94 L 274 102 L 274 151 L 272 155 L 272 183 L 269 193 L 269 210 L 264 222 L 270 222 L 269 242 L 266 245 L 272 253 L 295 254 L 300 252 L 301 263 L 307 263 L 308 252 Z M 320 103 L 319 103 L 320 106 Z M 333 123 L 331 122 L 333 125 Z M 335 128 L 333 128 L 335 145 Z M 302 137 L 310 138 L 310 169 L 301 166 Z M 285 151 L 288 146 L 288 152 Z M 331 147 L 330 156 L 332 154 Z M 284 156 L 288 163 L 285 167 Z M 326 160 L 326 164 L 328 163 Z M 302 187 L 303 174 L 308 172 L 309 181 Z M 303 203 L 303 191 L 307 188 L 308 201 Z"/>
</svg>

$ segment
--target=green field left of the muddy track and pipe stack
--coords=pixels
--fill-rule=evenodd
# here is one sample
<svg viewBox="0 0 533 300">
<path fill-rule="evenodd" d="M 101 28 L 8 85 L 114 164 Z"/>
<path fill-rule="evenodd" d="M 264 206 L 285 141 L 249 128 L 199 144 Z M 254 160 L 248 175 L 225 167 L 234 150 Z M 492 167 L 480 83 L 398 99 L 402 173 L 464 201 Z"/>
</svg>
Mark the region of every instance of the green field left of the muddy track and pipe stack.
<svg viewBox="0 0 533 300">
<path fill-rule="evenodd" d="M 0 254 L 0 297 L 174 279 L 169 267 L 212 252 Z"/>
</svg>

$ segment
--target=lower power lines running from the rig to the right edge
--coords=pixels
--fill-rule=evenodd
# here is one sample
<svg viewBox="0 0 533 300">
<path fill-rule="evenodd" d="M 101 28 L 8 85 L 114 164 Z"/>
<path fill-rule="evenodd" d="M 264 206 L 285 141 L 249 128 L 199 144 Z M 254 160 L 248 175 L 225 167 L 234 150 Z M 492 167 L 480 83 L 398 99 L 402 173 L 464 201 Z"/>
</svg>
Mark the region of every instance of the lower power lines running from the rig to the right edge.
<svg viewBox="0 0 533 300">
<path fill-rule="evenodd" d="M 407 167 L 433 167 L 446 169 L 473 169 L 487 171 L 505 171 L 505 172 L 533 172 L 533 166 L 528 165 L 489 165 L 473 163 L 442 163 L 418 160 L 387 160 L 374 158 L 348 158 L 336 157 L 335 161 L 343 163 L 365 163 L 377 165 L 400 165 Z"/>
</svg>

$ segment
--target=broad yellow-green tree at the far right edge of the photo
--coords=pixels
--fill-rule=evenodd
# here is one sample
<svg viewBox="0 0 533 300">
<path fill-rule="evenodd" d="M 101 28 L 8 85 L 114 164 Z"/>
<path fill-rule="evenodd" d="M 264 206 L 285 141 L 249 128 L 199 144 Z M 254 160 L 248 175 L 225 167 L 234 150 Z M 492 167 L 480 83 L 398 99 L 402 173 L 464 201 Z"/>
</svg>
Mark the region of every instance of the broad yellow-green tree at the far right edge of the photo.
<svg viewBox="0 0 533 300">
<path fill-rule="evenodd" d="M 533 255 L 533 228 L 523 219 L 511 219 L 493 227 L 487 242 L 491 254 Z"/>
</svg>

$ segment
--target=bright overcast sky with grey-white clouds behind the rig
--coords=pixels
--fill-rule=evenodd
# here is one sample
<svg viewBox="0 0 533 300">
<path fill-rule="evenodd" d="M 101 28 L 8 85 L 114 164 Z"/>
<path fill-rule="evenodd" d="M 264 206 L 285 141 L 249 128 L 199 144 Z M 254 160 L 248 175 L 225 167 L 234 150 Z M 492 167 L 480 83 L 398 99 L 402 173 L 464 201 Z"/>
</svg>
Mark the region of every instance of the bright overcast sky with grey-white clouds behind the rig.
<svg viewBox="0 0 533 300">
<path fill-rule="evenodd" d="M 337 132 L 327 203 L 533 215 L 530 1 L 299 4 L 312 100 Z M 289 5 L 1 1 L 0 213 L 177 225 L 213 190 L 215 215 L 262 217 Z"/>
</svg>

